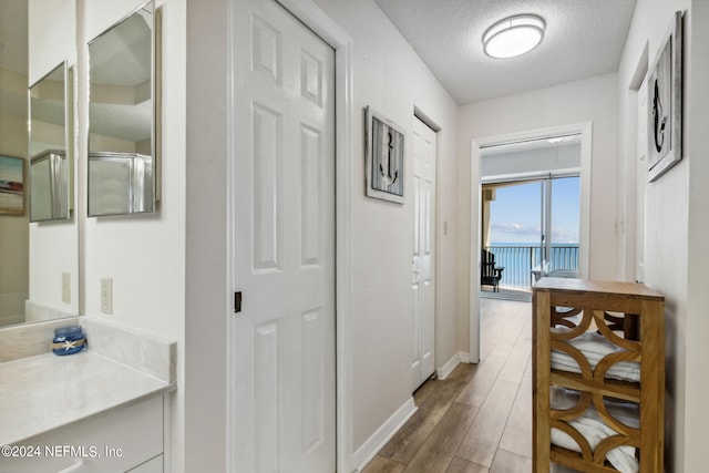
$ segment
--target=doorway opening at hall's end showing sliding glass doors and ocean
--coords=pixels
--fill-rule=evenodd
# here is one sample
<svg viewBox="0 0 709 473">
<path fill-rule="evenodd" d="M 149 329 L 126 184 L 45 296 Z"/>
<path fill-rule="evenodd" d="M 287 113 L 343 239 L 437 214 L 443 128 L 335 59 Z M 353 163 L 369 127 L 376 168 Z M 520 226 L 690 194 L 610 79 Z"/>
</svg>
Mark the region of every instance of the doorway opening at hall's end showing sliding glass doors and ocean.
<svg viewBox="0 0 709 473">
<path fill-rule="evenodd" d="M 578 277 L 579 166 L 578 134 L 483 150 L 482 297 L 531 300 L 544 276 Z"/>
</svg>

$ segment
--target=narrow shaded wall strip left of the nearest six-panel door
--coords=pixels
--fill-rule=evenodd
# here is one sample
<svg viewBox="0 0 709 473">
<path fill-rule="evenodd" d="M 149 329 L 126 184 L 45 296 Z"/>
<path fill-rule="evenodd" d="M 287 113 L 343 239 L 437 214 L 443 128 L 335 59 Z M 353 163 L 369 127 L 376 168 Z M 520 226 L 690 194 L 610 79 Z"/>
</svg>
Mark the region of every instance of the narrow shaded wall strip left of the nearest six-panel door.
<svg viewBox="0 0 709 473">
<path fill-rule="evenodd" d="M 227 0 L 187 0 L 185 472 L 224 472 L 228 452 L 227 18 Z"/>
</svg>

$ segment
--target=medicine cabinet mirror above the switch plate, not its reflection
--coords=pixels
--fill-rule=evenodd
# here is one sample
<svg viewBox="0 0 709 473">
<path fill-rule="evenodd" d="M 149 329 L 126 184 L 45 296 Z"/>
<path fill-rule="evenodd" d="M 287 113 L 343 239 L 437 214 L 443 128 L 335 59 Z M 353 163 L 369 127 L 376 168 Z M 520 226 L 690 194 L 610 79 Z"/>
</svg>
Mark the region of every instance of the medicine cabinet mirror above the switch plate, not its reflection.
<svg viewBox="0 0 709 473">
<path fill-rule="evenodd" d="M 154 213 L 153 2 L 89 43 L 89 216 Z"/>
</svg>

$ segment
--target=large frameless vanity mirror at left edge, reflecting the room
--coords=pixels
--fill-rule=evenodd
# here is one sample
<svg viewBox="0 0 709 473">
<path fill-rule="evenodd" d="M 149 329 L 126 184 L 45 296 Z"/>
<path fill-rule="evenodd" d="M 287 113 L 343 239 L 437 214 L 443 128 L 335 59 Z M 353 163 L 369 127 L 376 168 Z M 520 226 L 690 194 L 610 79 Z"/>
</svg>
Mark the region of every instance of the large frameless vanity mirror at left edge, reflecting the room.
<svg viewBox="0 0 709 473">
<path fill-rule="evenodd" d="M 56 168 L 64 167 L 62 162 L 71 160 L 74 148 L 71 64 L 76 61 L 75 0 L 2 0 L 0 32 L 0 155 L 22 158 L 25 169 L 24 212 L 0 215 L 0 327 L 6 327 L 81 313 L 76 219 L 30 223 L 32 191 L 42 188 L 32 186 L 32 181 L 45 178 L 51 185 L 50 166 L 59 177 Z M 54 83 L 61 81 L 63 100 L 62 86 Z M 30 124 L 31 120 L 37 123 Z M 32 126 L 31 138 L 28 124 Z M 56 157 L 38 160 L 33 169 L 31 157 L 40 157 L 43 151 Z M 65 167 L 70 183 L 75 182 L 75 166 Z M 60 181 L 64 182 L 63 177 Z M 51 192 L 47 194 L 49 199 Z M 70 203 L 63 204 L 70 212 L 75 207 L 71 194 L 66 196 Z M 16 342 L 22 340 L 3 339 L 3 349 Z"/>
</svg>

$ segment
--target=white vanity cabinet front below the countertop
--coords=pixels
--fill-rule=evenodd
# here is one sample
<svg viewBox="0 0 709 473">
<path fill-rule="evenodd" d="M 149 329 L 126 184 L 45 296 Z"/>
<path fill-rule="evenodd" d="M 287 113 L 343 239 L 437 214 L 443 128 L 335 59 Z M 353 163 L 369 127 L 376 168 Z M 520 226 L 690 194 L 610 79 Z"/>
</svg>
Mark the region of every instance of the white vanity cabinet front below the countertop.
<svg viewBox="0 0 709 473">
<path fill-rule="evenodd" d="M 0 471 L 163 472 L 163 402 L 153 395 L 18 442 L 12 446 L 35 455 L 2 456 Z"/>
</svg>

